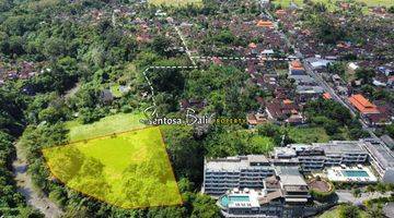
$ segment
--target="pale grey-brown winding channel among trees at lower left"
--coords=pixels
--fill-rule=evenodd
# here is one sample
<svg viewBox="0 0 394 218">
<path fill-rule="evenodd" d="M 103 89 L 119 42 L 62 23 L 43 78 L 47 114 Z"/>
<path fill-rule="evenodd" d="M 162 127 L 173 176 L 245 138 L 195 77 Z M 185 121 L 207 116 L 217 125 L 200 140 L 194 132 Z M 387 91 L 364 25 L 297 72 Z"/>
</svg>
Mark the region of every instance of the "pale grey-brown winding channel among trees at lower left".
<svg viewBox="0 0 394 218">
<path fill-rule="evenodd" d="M 13 173 L 18 184 L 18 191 L 23 194 L 28 205 L 37 208 L 45 217 L 56 218 L 62 214 L 61 209 L 55 205 L 40 191 L 33 186 L 32 178 L 27 173 L 26 155 L 19 143 L 15 144 L 16 160 L 12 164 Z"/>
</svg>

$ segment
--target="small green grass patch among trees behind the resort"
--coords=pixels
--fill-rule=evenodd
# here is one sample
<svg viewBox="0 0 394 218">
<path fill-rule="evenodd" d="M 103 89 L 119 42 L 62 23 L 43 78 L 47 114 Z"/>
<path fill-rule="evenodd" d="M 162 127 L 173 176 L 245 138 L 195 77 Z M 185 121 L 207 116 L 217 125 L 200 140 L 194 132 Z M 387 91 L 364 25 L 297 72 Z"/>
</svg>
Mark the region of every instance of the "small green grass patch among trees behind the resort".
<svg viewBox="0 0 394 218">
<path fill-rule="evenodd" d="M 329 136 L 323 128 L 289 128 L 289 135 L 296 143 L 326 143 Z"/>
</svg>

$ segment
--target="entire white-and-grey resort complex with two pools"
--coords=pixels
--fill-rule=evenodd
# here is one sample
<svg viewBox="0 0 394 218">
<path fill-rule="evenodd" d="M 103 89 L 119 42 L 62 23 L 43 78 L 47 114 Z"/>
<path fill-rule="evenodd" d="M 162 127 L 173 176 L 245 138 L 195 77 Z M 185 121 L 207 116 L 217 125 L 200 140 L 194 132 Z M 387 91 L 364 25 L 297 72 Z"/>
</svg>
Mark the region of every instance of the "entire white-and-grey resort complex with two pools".
<svg viewBox="0 0 394 218">
<path fill-rule="evenodd" d="M 368 160 L 371 166 L 364 166 Z M 313 216 L 321 208 L 306 204 L 311 196 L 301 172 L 337 182 L 394 182 L 394 154 L 381 142 L 360 140 L 290 144 L 276 147 L 268 159 L 206 159 L 202 192 L 218 198 L 229 218 Z"/>
</svg>

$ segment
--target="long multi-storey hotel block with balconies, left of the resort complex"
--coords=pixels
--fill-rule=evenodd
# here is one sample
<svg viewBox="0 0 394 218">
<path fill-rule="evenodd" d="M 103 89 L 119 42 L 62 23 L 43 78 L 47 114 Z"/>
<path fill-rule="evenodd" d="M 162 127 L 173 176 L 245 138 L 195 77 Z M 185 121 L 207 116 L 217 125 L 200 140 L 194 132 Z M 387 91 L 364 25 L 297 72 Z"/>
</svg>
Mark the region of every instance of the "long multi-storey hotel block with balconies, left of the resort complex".
<svg viewBox="0 0 394 218">
<path fill-rule="evenodd" d="M 263 155 L 206 159 L 204 167 L 202 192 L 212 196 L 234 187 L 262 189 L 263 179 L 275 174 Z"/>
</svg>

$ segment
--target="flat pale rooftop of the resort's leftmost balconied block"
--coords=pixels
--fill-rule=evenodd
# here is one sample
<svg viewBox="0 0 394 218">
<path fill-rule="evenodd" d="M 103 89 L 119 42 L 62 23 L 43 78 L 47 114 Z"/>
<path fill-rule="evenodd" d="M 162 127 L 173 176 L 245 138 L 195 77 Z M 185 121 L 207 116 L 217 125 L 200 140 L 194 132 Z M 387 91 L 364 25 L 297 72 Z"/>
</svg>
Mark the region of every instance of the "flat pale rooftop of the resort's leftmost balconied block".
<svg viewBox="0 0 394 218">
<path fill-rule="evenodd" d="M 241 169 L 260 166 L 251 166 L 251 164 L 269 165 L 264 155 L 233 156 L 227 158 L 206 159 L 206 169 L 208 171 L 240 171 Z M 263 166 L 264 167 L 264 166 Z"/>
</svg>

